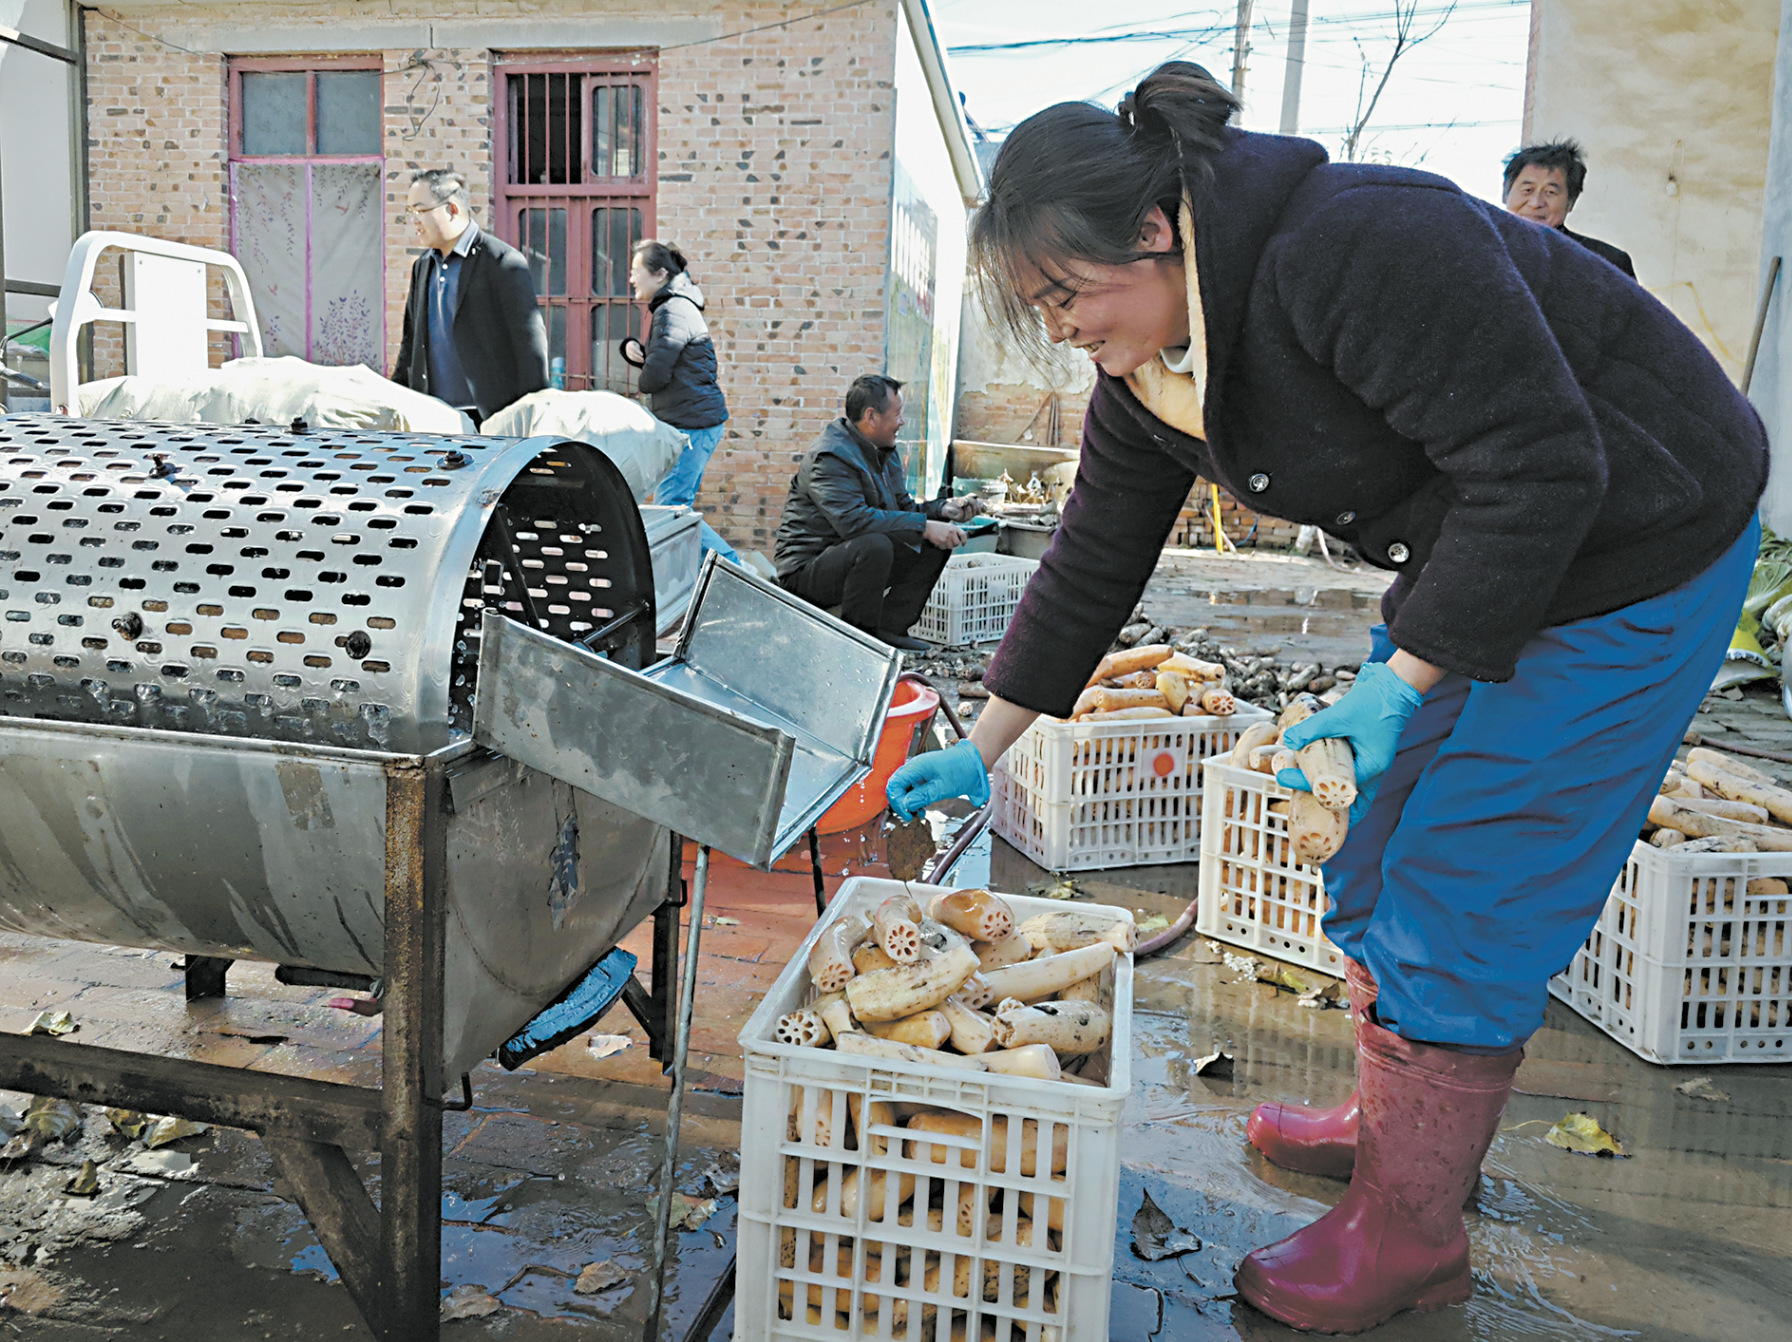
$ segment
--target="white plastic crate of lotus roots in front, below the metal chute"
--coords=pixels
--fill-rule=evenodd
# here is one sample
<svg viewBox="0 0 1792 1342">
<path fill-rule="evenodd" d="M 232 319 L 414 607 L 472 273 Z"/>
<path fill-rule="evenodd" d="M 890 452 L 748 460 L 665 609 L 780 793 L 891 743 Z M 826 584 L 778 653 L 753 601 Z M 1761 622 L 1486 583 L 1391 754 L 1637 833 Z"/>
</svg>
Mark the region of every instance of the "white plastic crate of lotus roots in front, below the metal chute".
<svg viewBox="0 0 1792 1342">
<path fill-rule="evenodd" d="M 815 996 L 808 951 L 821 930 L 846 912 L 869 914 L 903 889 L 925 903 L 943 887 L 862 876 L 846 882 L 740 1032 L 745 1097 L 735 1342 L 831 1342 L 842 1335 L 909 1342 L 946 1342 L 959 1335 L 998 1342 L 1106 1338 L 1120 1195 L 1120 1111 L 1131 1091 L 1129 957 L 1115 957 L 1107 975 L 1113 1043 L 1104 1088 L 857 1057 L 772 1039 L 778 1018 Z M 1050 899 L 1004 898 L 1021 919 L 1064 910 Z M 1131 919 L 1124 908 L 1075 908 Z M 959 1152 L 957 1165 L 944 1154 L 935 1163 L 900 1127 L 901 1111 L 889 1123 L 873 1116 L 866 1138 L 857 1140 L 851 1114 L 869 1114 L 873 1104 L 969 1114 L 982 1122 L 984 1136 L 930 1134 L 926 1145 Z M 1038 1168 L 1018 1159 L 1014 1143 L 1002 1168 L 993 1168 L 986 1138 L 996 1125 L 1020 1129 L 1023 1141 L 1036 1134 L 1036 1150 L 1063 1145 L 1063 1170 L 1054 1168 L 1055 1159 Z M 826 1179 L 821 1211 L 814 1193 L 797 1195 L 817 1177 Z M 878 1206 L 880 1179 L 885 1190 L 891 1181 L 898 1188 L 914 1181 L 912 1200 L 887 1197 Z M 871 1193 L 844 1211 L 842 1190 L 860 1181 Z M 935 1202 L 941 1215 L 930 1224 L 926 1208 Z M 1038 1234 L 1030 1245 L 1016 1243 L 1016 1208 L 1025 1213 L 1041 1206 L 1048 1211 L 1034 1226 L 1057 1220 L 1061 1234 L 1055 1242 Z M 916 1208 L 923 1209 L 919 1224 Z M 944 1265 L 932 1286 L 928 1258 Z M 962 1290 L 959 1260 L 968 1260 Z M 814 1315 L 812 1290 L 819 1304 Z M 790 1308 L 780 1310 L 780 1299 Z"/>
</svg>

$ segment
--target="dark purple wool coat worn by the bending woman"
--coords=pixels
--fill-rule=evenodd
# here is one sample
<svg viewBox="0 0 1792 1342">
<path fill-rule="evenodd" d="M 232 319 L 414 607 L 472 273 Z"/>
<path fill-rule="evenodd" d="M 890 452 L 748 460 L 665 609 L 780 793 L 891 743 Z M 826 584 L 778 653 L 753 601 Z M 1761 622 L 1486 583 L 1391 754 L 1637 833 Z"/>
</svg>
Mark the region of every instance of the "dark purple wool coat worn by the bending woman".
<svg viewBox="0 0 1792 1342">
<path fill-rule="evenodd" d="M 1195 210 L 1206 441 L 1100 374 L 1077 486 L 984 684 L 1063 717 L 1195 475 L 1400 573 L 1394 643 L 1480 681 L 1677 588 L 1744 530 L 1767 435 L 1661 303 L 1407 168 L 1228 131 Z"/>
</svg>

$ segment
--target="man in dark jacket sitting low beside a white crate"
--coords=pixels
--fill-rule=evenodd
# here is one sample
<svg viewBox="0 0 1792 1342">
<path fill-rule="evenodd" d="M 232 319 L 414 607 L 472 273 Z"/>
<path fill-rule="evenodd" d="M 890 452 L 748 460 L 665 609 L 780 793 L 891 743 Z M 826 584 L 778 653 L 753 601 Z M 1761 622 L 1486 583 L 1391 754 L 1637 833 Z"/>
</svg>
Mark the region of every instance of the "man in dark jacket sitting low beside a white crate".
<svg viewBox="0 0 1792 1342">
<path fill-rule="evenodd" d="M 778 527 L 778 581 L 803 600 L 839 606 L 846 624 L 905 652 L 926 649 L 909 629 L 921 618 L 946 559 L 964 545 L 955 523 L 975 500 L 909 493 L 896 434 L 901 383 L 855 378 L 846 416 L 803 455 Z"/>
</svg>

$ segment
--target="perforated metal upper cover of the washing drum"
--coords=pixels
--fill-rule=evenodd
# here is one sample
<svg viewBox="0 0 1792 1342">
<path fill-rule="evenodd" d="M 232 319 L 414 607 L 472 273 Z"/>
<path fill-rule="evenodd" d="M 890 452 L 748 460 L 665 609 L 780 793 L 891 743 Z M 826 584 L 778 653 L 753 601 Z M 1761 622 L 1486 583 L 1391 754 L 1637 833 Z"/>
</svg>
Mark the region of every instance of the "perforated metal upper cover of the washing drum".
<svg viewBox="0 0 1792 1342">
<path fill-rule="evenodd" d="M 600 452 L 0 417 L 0 715 L 432 751 L 470 729 L 487 606 L 650 659 Z"/>
</svg>

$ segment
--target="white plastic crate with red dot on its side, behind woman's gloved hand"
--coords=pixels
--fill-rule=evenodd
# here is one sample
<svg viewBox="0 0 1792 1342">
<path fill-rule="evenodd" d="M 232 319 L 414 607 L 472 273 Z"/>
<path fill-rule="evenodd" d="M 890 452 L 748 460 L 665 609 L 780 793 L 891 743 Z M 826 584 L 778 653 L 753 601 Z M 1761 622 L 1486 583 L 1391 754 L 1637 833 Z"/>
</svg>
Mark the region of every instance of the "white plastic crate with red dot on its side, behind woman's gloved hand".
<svg viewBox="0 0 1792 1342">
<path fill-rule="evenodd" d="M 996 763 L 995 830 L 1048 871 L 1193 862 L 1201 760 L 1267 717 L 1038 718 Z"/>
</svg>

